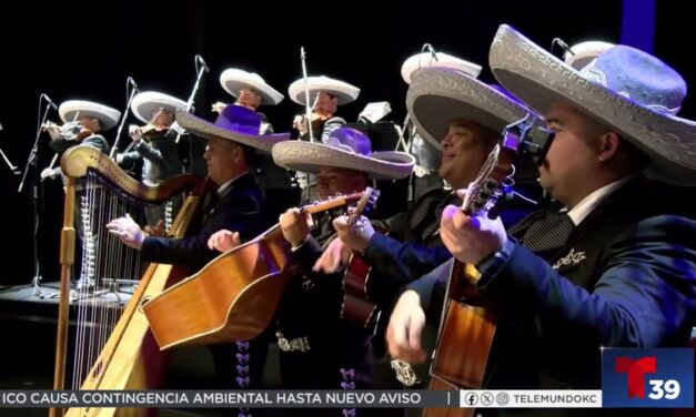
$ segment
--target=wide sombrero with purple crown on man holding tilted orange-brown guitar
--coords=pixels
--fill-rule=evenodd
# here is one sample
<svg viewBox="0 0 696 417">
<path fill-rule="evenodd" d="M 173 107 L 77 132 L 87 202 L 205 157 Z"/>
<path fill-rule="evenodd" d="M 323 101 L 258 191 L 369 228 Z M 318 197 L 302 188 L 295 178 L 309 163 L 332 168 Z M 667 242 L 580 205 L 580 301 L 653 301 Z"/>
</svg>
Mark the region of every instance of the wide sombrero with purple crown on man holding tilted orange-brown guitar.
<svg viewBox="0 0 696 417">
<path fill-rule="evenodd" d="M 273 146 L 273 161 L 289 170 L 316 173 L 321 166 L 364 172 L 374 180 L 403 179 L 415 159 L 404 152 L 372 152 L 370 138 L 351 128 L 331 132 L 326 143 L 286 141 Z"/>
</svg>

